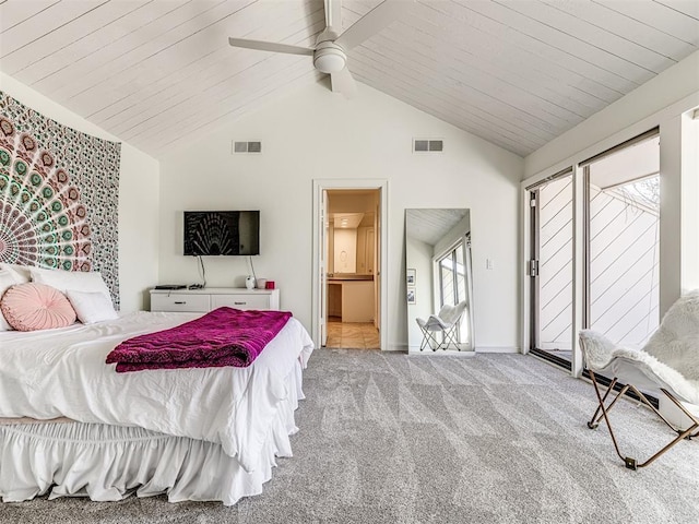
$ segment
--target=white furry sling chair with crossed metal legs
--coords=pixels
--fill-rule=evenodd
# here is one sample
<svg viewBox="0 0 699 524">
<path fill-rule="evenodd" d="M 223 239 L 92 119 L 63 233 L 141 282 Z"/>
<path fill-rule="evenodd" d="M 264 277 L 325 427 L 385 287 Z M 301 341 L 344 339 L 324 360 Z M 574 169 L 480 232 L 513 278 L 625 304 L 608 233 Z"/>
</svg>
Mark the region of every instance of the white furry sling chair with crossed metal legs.
<svg viewBox="0 0 699 524">
<path fill-rule="evenodd" d="M 626 467 L 637 469 L 647 466 L 682 440 L 699 436 L 699 417 L 683 404 L 699 405 L 699 290 L 679 298 L 670 308 L 660 327 L 642 349 L 617 346 L 592 331 L 580 332 L 580 346 L 599 403 L 588 427 L 595 429 L 604 419 L 616 453 Z M 604 396 L 595 373 L 613 377 Z M 606 403 L 617 383 L 624 386 Z M 609 421 L 609 410 L 628 390 L 636 393 L 675 432 L 672 441 L 640 464 L 636 458 L 621 454 Z M 642 392 L 668 398 L 688 417 L 688 427 L 676 429 Z"/>
</svg>

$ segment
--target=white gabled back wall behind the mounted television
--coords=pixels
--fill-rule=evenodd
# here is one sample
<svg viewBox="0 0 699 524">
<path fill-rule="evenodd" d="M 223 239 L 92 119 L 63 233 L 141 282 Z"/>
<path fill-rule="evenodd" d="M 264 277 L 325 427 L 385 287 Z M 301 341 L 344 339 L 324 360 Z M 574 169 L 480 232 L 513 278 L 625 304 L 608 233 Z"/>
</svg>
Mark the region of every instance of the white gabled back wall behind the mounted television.
<svg viewBox="0 0 699 524">
<path fill-rule="evenodd" d="M 442 154 L 413 154 L 413 138 L 445 140 Z M 262 153 L 232 155 L 232 141 L 261 140 Z M 406 348 L 404 210 L 469 207 L 473 226 L 478 349 L 518 346 L 518 221 L 521 157 L 370 87 L 346 100 L 324 85 L 221 129 L 161 162 L 162 282 L 198 281 L 182 257 L 183 210 L 261 211 L 259 276 L 275 279 L 282 308 L 310 329 L 312 180 L 388 180 L 388 338 Z M 495 261 L 485 271 L 485 259 Z M 209 285 L 242 286 L 244 258 L 208 258 Z"/>
</svg>

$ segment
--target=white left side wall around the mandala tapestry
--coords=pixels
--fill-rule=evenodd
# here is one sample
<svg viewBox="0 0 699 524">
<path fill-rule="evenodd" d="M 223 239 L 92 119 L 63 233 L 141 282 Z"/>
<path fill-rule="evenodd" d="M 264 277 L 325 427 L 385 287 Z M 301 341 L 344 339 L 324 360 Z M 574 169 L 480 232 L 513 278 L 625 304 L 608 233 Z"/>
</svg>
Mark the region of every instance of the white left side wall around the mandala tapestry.
<svg viewBox="0 0 699 524">
<path fill-rule="evenodd" d="M 102 128 L 1 72 L 0 90 L 64 126 L 100 139 L 119 141 Z M 158 162 L 155 158 L 121 143 L 119 294 L 122 311 L 147 308 L 146 288 L 157 282 L 158 175 Z"/>
</svg>

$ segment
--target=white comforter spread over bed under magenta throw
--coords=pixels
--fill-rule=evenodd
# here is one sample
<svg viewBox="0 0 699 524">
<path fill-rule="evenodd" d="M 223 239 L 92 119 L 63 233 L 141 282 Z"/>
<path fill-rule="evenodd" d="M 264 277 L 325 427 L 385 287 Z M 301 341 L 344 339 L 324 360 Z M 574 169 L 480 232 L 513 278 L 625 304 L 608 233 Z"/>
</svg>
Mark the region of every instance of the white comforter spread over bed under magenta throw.
<svg viewBox="0 0 699 524">
<path fill-rule="evenodd" d="M 61 330 L 0 333 L 0 417 L 64 416 L 205 440 L 252 471 L 276 405 L 289 394 L 284 379 L 312 352 L 296 319 L 248 368 L 117 373 L 105 364 L 121 341 L 196 317 L 138 312 Z"/>
</svg>

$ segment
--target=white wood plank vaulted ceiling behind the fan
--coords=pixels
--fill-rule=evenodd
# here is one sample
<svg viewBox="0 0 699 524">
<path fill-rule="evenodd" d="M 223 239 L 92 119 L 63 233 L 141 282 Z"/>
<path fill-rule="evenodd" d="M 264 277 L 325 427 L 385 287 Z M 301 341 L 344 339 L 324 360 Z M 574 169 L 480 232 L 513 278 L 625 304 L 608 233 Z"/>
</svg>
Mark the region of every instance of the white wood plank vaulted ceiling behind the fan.
<svg viewBox="0 0 699 524">
<path fill-rule="evenodd" d="M 379 3 L 344 0 L 343 29 Z M 0 70 L 158 157 L 324 78 L 228 36 L 312 47 L 323 28 L 322 0 L 0 0 Z M 524 156 L 698 47 L 697 0 L 417 0 L 348 66 Z"/>
</svg>

